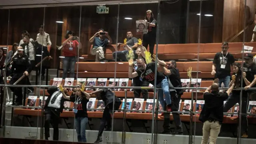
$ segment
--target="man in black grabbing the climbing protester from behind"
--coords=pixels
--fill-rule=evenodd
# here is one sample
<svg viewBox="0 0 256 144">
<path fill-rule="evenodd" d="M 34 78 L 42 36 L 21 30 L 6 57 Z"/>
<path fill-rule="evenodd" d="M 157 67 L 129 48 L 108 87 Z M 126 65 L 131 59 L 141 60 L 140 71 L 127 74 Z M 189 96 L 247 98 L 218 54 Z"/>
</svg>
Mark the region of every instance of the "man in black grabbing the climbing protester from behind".
<svg viewBox="0 0 256 144">
<path fill-rule="evenodd" d="M 164 72 L 164 74 L 169 78 L 170 83 L 173 85 L 174 88 L 181 88 L 182 84 L 180 81 L 180 72 L 178 70 L 178 68 L 176 68 L 176 61 L 175 60 L 170 60 L 168 62 L 168 69 L 166 67 L 164 67 L 163 65 L 161 65 L 161 68 Z M 176 131 L 175 132 L 171 132 L 171 134 L 183 134 L 182 131 L 182 123 L 180 120 L 180 114 L 176 113 L 179 111 L 179 103 L 180 103 L 180 98 L 181 95 L 183 94 L 184 90 L 172 90 L 170 89 L 170 95 L 171 95 L 171 100 L 172 100 L 172 104 L 171 104 L 171 108 L 172 111 L 174 111 L 172 113 L 175 125 L 176 125 Z M 165 106 L 164 106 L 165 107 Z M 165 109 L 164 109 L 165 110 Z M 160 132 L 161 134 L 168 134 L 170 133 L 170 113 L 162 113 L 161 116 L 164 115 L 164 131 Z"/>
</svg>

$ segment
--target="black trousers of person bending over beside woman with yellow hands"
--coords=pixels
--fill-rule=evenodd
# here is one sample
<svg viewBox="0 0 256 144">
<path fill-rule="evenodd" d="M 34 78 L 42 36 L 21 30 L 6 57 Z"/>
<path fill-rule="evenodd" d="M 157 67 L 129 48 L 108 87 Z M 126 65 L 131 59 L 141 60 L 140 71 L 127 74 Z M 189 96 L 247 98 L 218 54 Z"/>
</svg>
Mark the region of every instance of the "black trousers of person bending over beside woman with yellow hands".
<svg viewBox="0 0 256 144">
<path fill-rule="evenodd" d="M 113 103 L 110 103 L 109 106 L 110 105 L 113 105 Z M 106 108 L 104 109 L 104 112 L 103 112 L 102 119 L 100 121 L 100 129 L 99 129 L 99 132 L 98 132 L 98 136 L 102 136 L 102 133 L 104 131 L 106 122 L 107 122 L 107 127 L 108 128 L 111 127 L 111 114 L 112 114 L 112 112 L 113 112 L 113 109 L 110 109 L 108 106 L 106 106 Z"/>
</svg>

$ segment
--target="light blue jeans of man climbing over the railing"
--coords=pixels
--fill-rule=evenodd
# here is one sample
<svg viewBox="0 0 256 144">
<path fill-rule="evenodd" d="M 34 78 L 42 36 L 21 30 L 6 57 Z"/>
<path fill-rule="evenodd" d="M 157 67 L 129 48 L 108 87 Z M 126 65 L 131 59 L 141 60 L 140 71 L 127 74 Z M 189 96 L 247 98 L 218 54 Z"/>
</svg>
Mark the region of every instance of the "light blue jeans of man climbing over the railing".
<svg viewBox="0 0 256 144">
<path fill-rule="evenodd" d="M 171 95 L 169 92 L 169 82 L 168 79 L 165 77 L 162 82 L 160 82 L 158 85 L 156 85 L 157 88 L 162 88 L 158 90 L 158 101 L 164 108 L 164 99 L 166 101 L 166 104 L 171 104 Z"/>
</svg>

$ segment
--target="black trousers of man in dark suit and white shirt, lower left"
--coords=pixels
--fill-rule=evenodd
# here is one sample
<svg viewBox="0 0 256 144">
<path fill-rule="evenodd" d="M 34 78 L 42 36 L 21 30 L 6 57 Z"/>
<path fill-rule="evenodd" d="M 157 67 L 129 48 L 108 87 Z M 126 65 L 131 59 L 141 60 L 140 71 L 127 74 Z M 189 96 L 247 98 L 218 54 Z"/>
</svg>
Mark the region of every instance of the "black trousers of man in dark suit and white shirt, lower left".
<svg viewBox="0 0 256 144">
<path fill-rule="evenodd" d="M 59 140 L 59 127 L 58 124 L 60 122 L 60 113 L 53 112 L 54 109 L 45 109 L 45 124 L 44 124 L 44 136 L 45 139 L 48 140 L 50 137 L 50 124 L 53 127 L 53 140 Z"/>
</svg>

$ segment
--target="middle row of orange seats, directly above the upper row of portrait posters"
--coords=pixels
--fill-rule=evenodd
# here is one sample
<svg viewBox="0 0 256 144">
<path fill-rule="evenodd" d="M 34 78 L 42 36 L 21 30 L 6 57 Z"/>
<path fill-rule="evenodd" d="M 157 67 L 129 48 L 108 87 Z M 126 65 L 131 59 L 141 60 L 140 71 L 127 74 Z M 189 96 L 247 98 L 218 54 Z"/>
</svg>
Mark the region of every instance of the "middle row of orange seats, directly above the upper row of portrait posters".
<svg viewBox="0 0 256 144">
<path fill-rule="evenodd" d="M 242 63 L 242 61 L 236 62 Z M 78 78 L 114 78 L 115 74 L 116 78 L 128 78 L 128 62 L 78 62 L 75 67 L 75 73 L 78 74 Z M 193 78 L 196 78 L 196 71 L 198 71 L 198 78 L 214 78 L 214 75 L 211 74 L 212 62 L 210 61 L 177 62 L 177 68 L 180 70 L 180 78 L 188 78 L 187 70 L 189 67 L 192 67 Z M 161 68 L 158 68 L 158 70 L 161 71 Z M 60 77 L 62 77 L 62 73 Z"/>
</svg>

